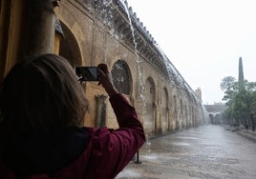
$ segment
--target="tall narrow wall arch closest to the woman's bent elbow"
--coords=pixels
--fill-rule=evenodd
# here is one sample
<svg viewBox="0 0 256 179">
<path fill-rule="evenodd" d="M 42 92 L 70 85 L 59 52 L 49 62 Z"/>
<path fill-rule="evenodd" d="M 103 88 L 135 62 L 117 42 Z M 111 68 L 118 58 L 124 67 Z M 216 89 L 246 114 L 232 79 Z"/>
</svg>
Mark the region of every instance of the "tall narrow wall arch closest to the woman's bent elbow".
<svg viewBox="0 0 256 179">
<path fill-rule="evenodd" d="M 144 129 L 149 135 L 157 132 L 156 124 L 156 87 L 152 77 L 148 77 L 145 83 L 145 118 Z"/>
</svg>

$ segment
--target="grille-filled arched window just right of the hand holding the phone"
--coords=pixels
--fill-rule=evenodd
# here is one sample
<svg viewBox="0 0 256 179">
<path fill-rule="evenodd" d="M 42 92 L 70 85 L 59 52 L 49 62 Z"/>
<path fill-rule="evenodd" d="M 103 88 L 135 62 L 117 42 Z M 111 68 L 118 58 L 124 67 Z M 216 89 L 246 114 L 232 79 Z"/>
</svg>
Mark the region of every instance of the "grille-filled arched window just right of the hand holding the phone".
<svg viewBox="0 0 256 179">
<path fill-rule="evenodd" d="M 117 60 L 111 70 L 113 82 L 117 90 L 123 94 L 132 94 L 131 70 L 124 60 Z"/>
</svg>

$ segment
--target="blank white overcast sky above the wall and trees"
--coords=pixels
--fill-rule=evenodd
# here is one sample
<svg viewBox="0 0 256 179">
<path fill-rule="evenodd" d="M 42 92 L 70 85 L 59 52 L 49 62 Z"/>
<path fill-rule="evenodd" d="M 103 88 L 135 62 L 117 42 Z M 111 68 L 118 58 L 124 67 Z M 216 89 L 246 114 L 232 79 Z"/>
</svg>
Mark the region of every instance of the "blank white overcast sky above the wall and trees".
<svg viewBox="0 0 256 179">
<path fill-rule="evenodd" d="M 203 104 L 222 102 L 225 76 L 256 82 L 256 0 L 127 0 Z"/>
</svg>

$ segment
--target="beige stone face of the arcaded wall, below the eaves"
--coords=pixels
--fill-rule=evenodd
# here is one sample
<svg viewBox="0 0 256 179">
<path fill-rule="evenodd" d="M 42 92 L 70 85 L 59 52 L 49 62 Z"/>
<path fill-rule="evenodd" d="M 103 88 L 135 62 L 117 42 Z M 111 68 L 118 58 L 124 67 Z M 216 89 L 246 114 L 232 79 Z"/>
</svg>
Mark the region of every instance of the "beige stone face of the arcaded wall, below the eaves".
<svg viewBox="0 0 256 179">
<path fill-rule="evenodd" d="M 62 0 L 57 15 L 75 36 L 82 59 L 78 65 L 96 66 L 99 63 L 107 63 L 112 69 L 117 60 L 126 62 L 131 71 L 132 81 L 132 89 L 127 98 L 138 110 L 139 119 L 146 133 L 156 135 L 203 123 L 204 116 L 201 107 L 188 99 L 183 89 L 179 89 L 175 82 L 169 80 L 168 76 L 158 69 L 160 68 L 159 62 L 154 63 L 160 60 L 159 57 L 156 57 L 155 61 L 151 60 L 156 49 L 151 47 L 152 44 L 146 41 L 147 37 L 143 34 L 139 34 L 139 38 L 142 39 L 139 43 L 144 43 L 145 47 L 139 44 L 138 59 L 131 42 L 118 38 L 120 35 L 118 33 L 112 34 L 110 27 L 102 23 L 96 17 L 96 13 L 88 9 L 85 2 Z M 125 15 L 118 18 L 125 18 Z M 145 50 L 150 50 L 152 54 L 149 55 L 151 52 Z M 141 62 L 139 63 L 138 60 Z M 141 78 L 139 78 L 139 72 L 142 74 Z M 140 83 L 144 90 L 140 87 Z M 96 96 L 105 94 L 105 92 L 97 86 L 96 82 L 87 82 L 83 86 L 91 105 L 91 112 L 86 116 L 85 125 L 96 126 Z M 140 97 L 140 94 L 144 99 Z M 105 124 L 108 128 L 117 129 L 116 117 L 108 98 L 105 102 Z"/>
</svg>

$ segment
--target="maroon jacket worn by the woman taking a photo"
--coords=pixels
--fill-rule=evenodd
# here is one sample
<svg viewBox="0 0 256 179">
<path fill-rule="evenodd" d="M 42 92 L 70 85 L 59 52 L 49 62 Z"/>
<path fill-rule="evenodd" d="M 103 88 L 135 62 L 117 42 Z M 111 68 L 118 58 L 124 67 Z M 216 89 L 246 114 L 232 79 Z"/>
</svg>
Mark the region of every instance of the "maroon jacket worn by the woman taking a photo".
<svg viewBox="0 0 256 179">
<path fill-rule="evenodd" d="M 33 173 L 33 174 L 30 174 L 28 178 L 29 179 L 57 179 L 57 178 L 112 179 L 112 178 L 115 178 L 115 176 L 117 176 L 117 173 L 121 171 L 131 161 L 131 159 L 136 154 L 138 149 L 143 145 L 145 141 L 145 135 L 144 135 L 143 128 L 138 120 L 138 115 L 136 113 L 136 110 L 129 105 L 127 100 L 121 94 L 116 94 L 114 96 L 111 96 L 110 102 L 116 113 L 119 129 L 111 131 L 107 128 L 100 128 L 100 129 L 83 128 L 84 136 L 86 136 L 85 138 L 87 140 L 86 147 L 84 147 L 84 149 L 79 153 L 78 157 L 76 157 L 75 160 L 69 162 L 69 164 L 64 166 L 63 168 L 61 167 L 61 169 L 56 168 L 57 170 L 55 170 L 54 172 L 51 172 L 51 174 L 47 172 L 39 172 L 39 174 Z M 39 140 L 39 141 L 43 141 L 43 140 Z M 40 143 L 43 143 L 43 142 L 40 142 Z M 23 145 L 20 145 L 20 146 L 21 146 L 20 148 L 22 148 Z M 26 146 L 26 144 L 24 146 Z M 44 146 L 47 146 L 47 145 L 44 145 Z M 66 148 L 65 146 L 65 148 L 63 149 L 68 149 L 68 148 Z M 22 150 L 22 149 L 19 149 L 19 150 Z M 44 154 L 45 154 L 45 150 L 47 149 L 44 149 Z M 53 149 L 51 148 L 51 150 Z M 31 153 L 31 152 L 28 152 L 28 153 Z M 61 153 L 61 151 L 58 153 Z M 39 155 L 41 154 L 37 154 L 37 155 L 40 158 Z M 18 158 L 20 154 L 16 156 L 17 156 L 16 158 Z M 66 156 L 62 156 L 62 158 L 63 157 L 66 157 Z M 14 158 L 14 161 L 16 158 Z M 45 155 L 43 158 L 41 157 L 40 160 L 38 159 L 37 164 L 40 163 L 40 161 L 44 160 L 44 158 L 47 158 L 47 156 Z M 49 162 L 49 165 L 51 165 L 51 163 L 52 161 Z M 0 161 L 0 178 L 1 179 L 18 178 L 15 175 L 16 172 L 12 171 L 12 169 L 8 166 L 9 165 L 7 165 L 6 163 Z M 23 165 L 21 164 L 18 166 L 23 166 Z"/>
</svg>

